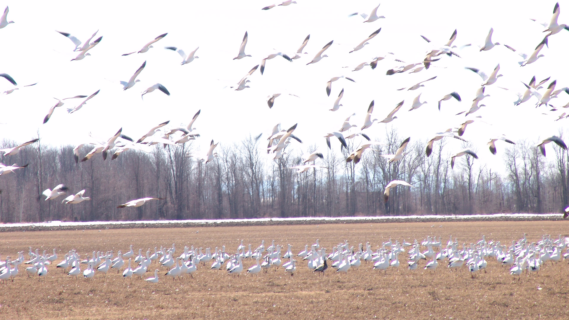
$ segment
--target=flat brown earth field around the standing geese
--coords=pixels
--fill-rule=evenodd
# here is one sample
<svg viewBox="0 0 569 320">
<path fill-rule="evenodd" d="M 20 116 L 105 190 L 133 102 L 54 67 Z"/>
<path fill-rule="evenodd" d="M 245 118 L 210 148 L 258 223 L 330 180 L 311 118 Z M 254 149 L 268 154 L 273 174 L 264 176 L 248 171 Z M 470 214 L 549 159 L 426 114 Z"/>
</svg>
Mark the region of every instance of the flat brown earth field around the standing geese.
<svg viewBox="0 0 569 320">
<path fill-rule="evenodd" d="M 440 227 L 439 227 L 440 226 Z M 221 247 L 233 251 L 245 239 L 253 249 L 266 241 L 293 245 L 293 252 L 316 239 L 331 248 L 348 240 L 357 247 L 369 241 L 372 249 L 389 240 L 421 241 L 427 235 L 450 235 L 459 243 L 486 240 L 509 245 L 527 233 L 530 241 L 550 234 L 555 239 L 567 235 L 569 221 L 469 221 L 444 223 L 360 223 L 319 225 L 265 225 L 251 227 L 102 229 L 85 231 L 36 231 L 0 233 L 0 253 L 16 257 L 27 247 L 51 253 L 57 249 L 61 261 L 65 252 L 77 249 L 84 258 L 92 251 L 154 250 L 155 246 L 176 244 L 176 254 L 184 245 Z M 461 245 L 460 245 L 461 247 Z M 27 255 L 26 255 L 27 257 Z M 209 265 L 194 278 L 174 281 L 163 276 L 150 284 L 139 277 L 122 278 L 109 272 L 97 273 L 89 281 L 70 278 L 55 265 L 46 277 L 28 278 L 24 266 L 14 282 L 0 284 L 0 315 L 3 319 L 569 319 L 569 265 L 567 260 L 542 266 L 539 275 L 513 278 L 508 268 L 488 260 L 487 273 L 471 278 L 467 269 L 451 272 L 440 263 L 435 272 L 401 267 L 386 273 L 362 264 L 347 274 L 311 273 L 306 261 L 298 261 L 293 277 L 282 269 L 258 275 L 234 277 Z M 250 259 L 245 268 L 253 265 Z M 422 267 L 426 261 L 420 261 Z M 83 266 L 83 265 L 82 265 Z M 83 266 L 84 268 L 84 266 Z M 156 264 L 151 265 L 152 271 Z M 122 271 L 122 270 L 121 270 Z M 153 273 L 152 273 L 153 274 Z M 152 274 L 147 273 L 146 277 Z"/>
</svg>

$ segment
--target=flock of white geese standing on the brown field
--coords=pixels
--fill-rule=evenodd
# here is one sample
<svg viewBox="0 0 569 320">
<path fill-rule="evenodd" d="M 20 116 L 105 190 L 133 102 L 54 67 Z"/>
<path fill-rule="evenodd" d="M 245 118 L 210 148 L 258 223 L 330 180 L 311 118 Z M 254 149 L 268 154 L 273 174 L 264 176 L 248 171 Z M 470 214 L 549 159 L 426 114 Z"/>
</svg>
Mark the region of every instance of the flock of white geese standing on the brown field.
<svg viewBox="0 0 569 320">
<path fill-rule="evenodd" d="M 106 273 L 112 270 L 117 270 L 117 273 L 122 270 L 122 276 L 125 278 L 133 276 L 143 278 L 146 273 L 151 273 L 154 269 L 154 276 L 145 278 L 148 282 L 159 281 L 160 268 L 168 270 L 163 276 L 172 280 L 180 280 L 187 275 L 193 278 L 198 269 L 204 268 L 224 270 L 236 276 L 241 273 L 257 274 L 266 273 L 270 269 L 275 271 L 280 269 L 294 276 L 298 271 L 297 267 L 301 265 L 300 261 L 304 261 L 302 263 L 307 265 L 307 272 L 319 275 L 331 272 L 339 274 L 356 272 L 364 265 L 387 273 L 388 269 L 399 268 L 399 256 L 406 253 L 407 259 L 403 265 L 410 270 L 418 269 L 424 260 L 425 264 L 420 267 L 425 270 L 435 272 L 439 265 L 443 268 L 446 265 L 451 272 L 467 268 L 471 277 L 476 277 L 481 270 L 486 272 L 489 260 L 494 260 L 496 262 L 493 263 L 508 266 L 509 273 L 517 276 L 519 281 L 524 271 L 528 276 L 534 272 L 538 274 L 539 270 L 546 268 L 549 262 L 555 264 L 563 259 L 569 259 L 569 237 L 561 235 L 558 239 L 544 235 L 542 239 L 530 242 L 524 233 L 521 239 L 513 240 L 509 245 L 501 244 L 500 241 L 487 241 L 486 237 L 482 236 L 477 243 L 468 245 L 463 243 L 461 248 L 458 239 L 453 240 L 452 236 L 447 243 L 443 242 L 442 237 L 427 236 L 423 241 L 415 240 L 413 243 L 389 239 L 377 247 L 376 251 L 373 251 L 372 245 L 368 242 L 360 243 L 356 248 L 346 240 L 332 247 L 331 253 L 327 253 L 320 240 L 316 240 L 315 244 L 306 244 L 304 250 L 295 255 L 290 244 L 286 245 L 284 251 L 285 247 L 275 244 L 274 240 L 267 247 L 265 240 L 262 240 L 261 245 L 252 249 L 251 244 L 245 245 L 244 240 L 241 240 L 241 244 L 232 251 L 232 254 L 226 252 L 225 245 L 221 248 L 216 247 L 213 253 L 211 248 L 206 248 L 204 253 L 203 248 L 193 245 L 184 246 L 182 253 L 176 253 L 176 245 L 172 244 L 171 248 L 155 247 L 154 252 L 150 250 L 143 252 L 143 249 L 138 249 L 136 255 L 133 245 L 130 245 L 129 250 L 118 251 L 117 256 L 114 255 L 114 251 L 93 251 L 91 254 L 86 254 L 85 259 L 73 249 L 65 253 L 62 260 L 58 260 L 56 249 L 53 249 L 50 255 L 46 251 L 39 253 L 39 249 L 32 251 L 29 247 L 27 261 L 24 252 L 21 251 L 18 253 L 18 259 L 11 260 L 10 257 L 6 257 L 6 260 L 0 262 L 0 280 L 14 281 L 21 264 L 30 265 L 26 268 L 26 273 L 28 277 L 37 275 L 38 281 L 47 276 L 48 266 L 51 268 L 54 264 L 55 268 L 61 268 L 68 276 L 75 278 L 81 276 L 93 278 L 96 274 L 105 277 Z M 246 264 L 248 260 L 254 261 L 254 264 Z M 299 262 L 298 266 L 296 262 Z"/>
</svg>

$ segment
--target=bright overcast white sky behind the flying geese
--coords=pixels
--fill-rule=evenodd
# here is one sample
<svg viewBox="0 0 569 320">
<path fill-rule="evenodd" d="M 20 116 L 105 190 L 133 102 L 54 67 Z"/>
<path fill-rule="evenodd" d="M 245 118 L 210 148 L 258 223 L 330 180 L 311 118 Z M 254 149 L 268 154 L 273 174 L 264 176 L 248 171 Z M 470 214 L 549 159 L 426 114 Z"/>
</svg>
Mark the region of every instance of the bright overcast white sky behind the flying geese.
<svg viewBox="0 0 569 320">
<path fill-rule="evenodd" d="M 325 148 L 325 133 L 340 128 L 344 119 L 352 113 L 353 123 L 362 125 L 369 102 L 375 100 L 373 118 L 383 119 L 401 100 L 405 105 L 390 124 L 375 123 L 365 132 L 369 136 L 383 137 L 386 129 L 396 128 L 401 137 L 411 140 L 428 140 L 432 134 L 456 127 L 465 121 L 456 113 L 470 108 L 476 90 L 483 82 L 464 67 L 492 72 L 498 63 L 500 77 L 496 84 L 486 88 L 491 95 L 480 104 L 482 109 L 472 116 L 482 116 L 487 123 L 469 125 L 464 138 L 472 142 L 481 163 L 501 170 L 501 154 L 506 143 L 497 145 L 498 155 L 489 153 L 485 143 L 491 136 L 506 134 L 514 141 L 527 139 L 537 143 L 541 138 L 558 134 L 567 121 L 553 120 L 554 114 L 544 115 L 550 108 L 535 108 L 532 98 L 525 104 L 514 106 L 516 93 L 525 91 L 521 81 L 528 83 L 532 76 L 538 80 L 551 76 L 557 80 L 556 88 L 569 86 L 567 52 L 569 31 L 563 30 L 549 39 L 535 63 L 519 67 L 523 59 L 518 52 L 533 52 L 543 39 L 545 30 L 541 22 L 549 22 L 555 1 L 476 1 L 451 2 L 440 5 L 424 1 L 382 2 L 378 19 L 363 23 L 359 16 L 348 17 L 354 12 L 370 13 L 378 5 L 375 1 L 302 1 L 290 6 L 278 6 L 261 10 L 270 1 L 222 1 L 222 2 L 76 2 L 76 1 L 0 1 L 0 10 L 10 7 L 8 20 L 15 23 L 0 29 L 0 73 L 13 76 L 19 85 L 38 83 L 0 95 L 0 137 L 25 142 L 39 134 L 43 143 L 51 145 L 75 145 L 89 142 L 88 132 L 108 138 L 118 128 L 132 138 L 139 138 L 150 128 L 170 120 L 171 126 L 187 125 L 193 114 L 201 109 L 195 122 L 201 138 L 197 144 L 204 153 L 212 139 L 220 145 L 230 145 L 252 134 L 269 133 L 281 123 L 288 128 L 298 122 L 295 131 L 305 143 L 291 143 L 289 149 L 308 151 L 316 143 Z M 559 23 L 569 23 L 569 3 L 560 2 Z M 348 54 L 373 31 L 382 28 L 380 34 L 370 40 L 362 50 Z M 493 42 L 508 44 L 517 49 L 512 52 L 504 46 L 479 52 L 490 27 L 494 28 Z M 402 65 L 393 60 L 382 60 L 375 70 L 365 67 L 352 72 L 354 66 L 370 61 L 376 56 L 393 52 L 395 58 L 409 63 L 422 61 L 430 44 L 444 44 L 457 29 L 457 46 L 472 43 L 457 52 L 462 58 L 442 59 L 428 70 L 413 74 L 386 76 L 387 69 Z M 103 36 L 100 44 L 90 50 L 91 56 L 80 61 L 70 61 L 77 52 L 71 41 L 55 32 L 70 32 L 80 40 L 86 40 L 94 31 Z M 242 37 L 248 31 L 249 42 L 245 52 L 252 55 L 232 60 L 237 55 Z M 138 51 L 156 36 L 168 35 L 154 44 L 145 54 L 121 56 Z M 256 71 L 250 77 L 251 88 L 233 91 L 224 88 L 236 85 L 251 67 L 266 55 L 282 51 L 294 55 L 306 36 L 310 34 L 307 55 L 292 63 L 277 57 L 268 60 L 265 74 Z M 316 64 L 306 65 L 330 40 L 334 44 Z M 186 52 L 196 47 L 195 59 L 180 65 L 182 58 L 164 47 L 175 46 Z M 122 90 L 119 80 L 128 80 L 143 61 L 146 68 L 133 88 Z M 343 68 L 351 67 L 351 68 Z M 356 83 L 341 79 L 332 84 L 332 93 L 325 93 L 326 82 L 333 76 L 352 77 Z M 396 91 L 438 76 L 415 91 Z M 155 83 L 163 84 L 171 96 L 152 92 L 141 100 L 141 92 Z M 548 83 L 549 84 L 549 81 Z M 547 85 L 546 84 L 546 85 Z M 508 91 L 498 88 L 509 88 Z M 0 79 L 0 92 L 13 86 Z M 343 106 L 336 112 L 332 108 L 340 90 L 344 88 Z M 47 110 L 55 104 L 53 97 L 90 95 L 101 89 L 99 95 L 82 109 L 67 114 L 79 101 L 67 100 L 67 104 L 53 113 L 43 125 Z M 437 101 L 447 93 L 457 91 L 463 102 L 443 101 L 437 110 Z M 543 90 L 541 91 L 543 93 Z M 273 93 L 294 93 L 299 96 L 278 97 L 269 109 L 267 96 Z M 422 101 L 428 103 L 417 110 L 407 111 L 414 97 L 422 93 Z M 567 104 L 569 96 L 560 95 L 551 100 L 555 106 Z M 336 143 L 333 145 L 339 149 Z M 547 147 L 551 154 L 551 146 Z M 450 141 L 448 153 L 460 150 L 459 141 Z M 290 151 L 290 150 L 289 150 Z"/>
</svg>

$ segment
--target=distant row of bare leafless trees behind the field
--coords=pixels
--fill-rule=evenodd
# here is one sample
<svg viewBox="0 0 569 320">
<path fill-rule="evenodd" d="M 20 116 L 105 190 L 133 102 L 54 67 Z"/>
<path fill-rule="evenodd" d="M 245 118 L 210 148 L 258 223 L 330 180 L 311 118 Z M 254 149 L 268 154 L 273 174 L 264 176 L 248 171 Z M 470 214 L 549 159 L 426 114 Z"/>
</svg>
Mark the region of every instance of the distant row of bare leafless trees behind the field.
<svg viewBox="0 0 569 320">
<path fill-rule="evenodd" d="M 156 145 L 151 153 L 129 150 L 114 160 L 100 154 L 75 163 L 73 146 L 41 143 L 6 156 L 6 165 L 29 166 L 0 176 L 0 222 L 49 220 L 160 220 L 232 219 L 304 216 L 464 215 L 497 212 L 561 212 L 569 204 L 569 155 L 554 146 L 544 158 L 534 143 L 502 147 L 506 170 L 496 173 L 470 156 L 450 166 L 446 140 L 435 143 L 426 157 L 424 141 L 413 141 L 401 161 L 388 164 L 378 154 L 394 154 L 405 137 L 391 132 L 387 146 L 368 149 L 356 165 L 345 158 L 348 150 L 325 153 L 316 165 L 297 174 L 287 169 L 302 162 L 302 154 L 288 147 L 273 161 L 254 138 L 217 147 L 218 157 L 207 165 L 191 155 L 204 152 L 183 146 Z M 3 147 L 16 143 L 3 141 Z M 339 146 L 332 146 L 337 149 Z M 80 154 L 90 150 L 84 146 Z M 313 150 L 311 150 L 313 151 Z M 477 153 L 489 152 L 479 146 Z M 416 188 L 397 186 L 384 203 L 391 180 L 405 180 Z M 63 183 L 68 194 L 85 189 L 91 201 L 62 204 L 67 195 L 44 201 L 46 188 Z M 142 207 L 117 208 L 143 197 L 165 200 Z"/>
</svg>

